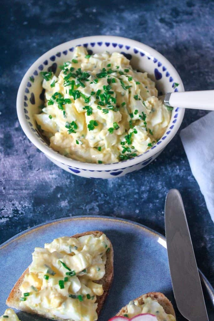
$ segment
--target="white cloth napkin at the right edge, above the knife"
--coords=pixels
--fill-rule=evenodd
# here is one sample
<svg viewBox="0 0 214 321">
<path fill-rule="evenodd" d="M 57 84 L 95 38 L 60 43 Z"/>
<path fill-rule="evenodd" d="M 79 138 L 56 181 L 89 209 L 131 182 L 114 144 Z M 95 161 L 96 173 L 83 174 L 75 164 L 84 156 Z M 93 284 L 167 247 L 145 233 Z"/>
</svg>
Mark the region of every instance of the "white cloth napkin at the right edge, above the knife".
<svg viewBox="0 0 214 321">
<path fill-rule="evenodd" d="M 190 168 L 214 221 L 214 112 L 184 128 L 180 136 Z"/>
</svg>

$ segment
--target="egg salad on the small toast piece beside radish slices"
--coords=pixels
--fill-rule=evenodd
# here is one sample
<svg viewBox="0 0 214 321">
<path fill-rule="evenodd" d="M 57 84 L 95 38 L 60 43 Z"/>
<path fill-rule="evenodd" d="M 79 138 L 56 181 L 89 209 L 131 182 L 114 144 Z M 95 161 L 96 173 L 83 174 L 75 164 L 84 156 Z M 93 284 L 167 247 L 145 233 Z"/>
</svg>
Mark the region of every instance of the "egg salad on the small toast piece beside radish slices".
<svg viewBox="0 0 214 321">
<path fill-rule="evenodd" d="M 157 317 L 158 321 L 175 321 L 175 317 L 171 314 L 167 314 L 164 308 L 156 300 L 152 300 L 150 297 L 144 299 L 144 303 L 139 305 L 139 302 L 131 301 L 127 305 L 126 317 L 132 318 L 141 313 L 150 313 Z"/>
</svg>

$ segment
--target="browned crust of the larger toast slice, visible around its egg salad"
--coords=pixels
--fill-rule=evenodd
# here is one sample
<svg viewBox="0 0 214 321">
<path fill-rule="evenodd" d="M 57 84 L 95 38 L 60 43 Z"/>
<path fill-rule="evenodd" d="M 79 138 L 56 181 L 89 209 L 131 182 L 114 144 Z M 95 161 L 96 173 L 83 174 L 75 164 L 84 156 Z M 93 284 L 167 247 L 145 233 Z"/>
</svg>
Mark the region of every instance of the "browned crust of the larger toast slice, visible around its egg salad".
<svg viewBox="0 0 214 321">
<path fill-rule="evenodd" d="M 75 234 L 71 237 L 73 238 L 79 238 L 81 236 L 84 236 L 84 235 L 90 235 L 90 234 L 93 234 L 95 237 L 100 237 L 103 232 L 100 232 L 100 231 L 89 231 L 89 232 L 84 232 L 84 233 L 79 233 L 79 234 Z M 109 239 L 108 239 L 109 240 Z M 109 240 L 110 242 L 110 240 Z M 96 300 L 96 303 L 98 304 L 98 307 L 97 307 L 97 314 L 99 316 L 99 313 L 102 309 L 102 306 L 104 304 L 104 301 L 105 299 L 107 298 L 107 295 L 108 295 L 108 292 L 110 290 L 110 287 L 111 287 L 111 284 L 112 284 L 112 281 L 113 281 L 113 277 L 114 277 L 114 267 L 113 267 L 113 261 L 114 261 L 114 252 L 113 252 L 113 247 L 112 247 L 112 244 L 110 242 L 110 251 L 106 254 L 107 256 L 107 260 L 106 260 L 106 265 L 105 265 L 105 275 L 104 277 L 99 280 L 99 281 L 93 281 L 93 282 L 96 282 L 96 283 L 99 283 L 99 284 L 102 284 L 103 286 L 103 295 L 101 296 L 97 296 L 97 300 Z M 23 282 L 24 280 L 24 276 L 26 273 L 29 272 L 29 268 L 27 268 L 23 273 L 22 275 L 20 276 L 20 278 L 18 279 L 18 281 L 15 283 L 15 285 L 13 286 L 13 289 L 11 290 L 7 300 L 6 300 L 6 304 L 11 307 L 11 308 L 15 308 L 17 310 L 20 310 L 20 297 L 21 297 L 21 291 L 19 290 L 20 288 L 20 285 L 21 283 Z M 31 313 L 31 314 L 38 314 L 36 311 L 33 311 L 31 310 L 30 308 L 22 308 L 21 309 L 22 311 L 24 312 L 27 312 L 27 313 Z M 41 315 L 41 317 L 45 317 L 45 318 L 50 318 L 50 316 L 48 314 L 43 314 Z M 58 318 L 55 318 L 55 320 L 59 320 L 59 321 L 65 321 L 64 319 L 58 317 Z"/>
</svg>

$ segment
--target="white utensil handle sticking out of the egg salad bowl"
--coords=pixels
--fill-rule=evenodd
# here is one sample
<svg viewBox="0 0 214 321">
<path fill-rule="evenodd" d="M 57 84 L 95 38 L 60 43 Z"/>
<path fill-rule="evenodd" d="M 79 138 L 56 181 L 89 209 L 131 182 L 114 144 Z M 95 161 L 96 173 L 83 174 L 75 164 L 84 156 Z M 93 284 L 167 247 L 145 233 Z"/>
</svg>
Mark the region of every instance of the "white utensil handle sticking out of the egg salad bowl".
<svg viewBox="0 0 214 321">
<path fill-rule="evenodd" d="M 164 104 L 172 107 L 214 110 L 214 90 L 168 92 Z"/>
</svg>

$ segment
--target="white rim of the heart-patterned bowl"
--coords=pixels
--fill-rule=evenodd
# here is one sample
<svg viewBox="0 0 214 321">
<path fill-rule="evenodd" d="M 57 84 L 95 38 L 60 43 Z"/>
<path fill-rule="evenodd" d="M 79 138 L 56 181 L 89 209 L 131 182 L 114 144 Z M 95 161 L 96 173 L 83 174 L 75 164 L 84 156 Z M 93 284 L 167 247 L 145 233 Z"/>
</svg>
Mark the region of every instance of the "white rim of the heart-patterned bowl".
<svg viewBox="0 0 214 321">
<path fill-rule="evenodd" d="M 167 135 L 166 139 L 164 141 L 162 141 L 161 144 L 156 145 L 156 148 L 154 150 L 150 150 L 150 154 L 148 155 L 147 153 L 143 153 L 141 155 L 138 155 L 136 157 L 133 157 L 129 160 L 126 161 L 119 161 L 116 163 L 111 163 L 111 164 L 95 164 L 95 163 L 86 163 L 86 162 L 81 162 L 78 160 L 73 160 L 71 158 L 68 158 L 66 156 L 63 156 L 61 154 L 59 154 L 58 152 L 54 151 L 53 149 L 51 149 L 50 147 L 46 146 L 46 144 L 41 143 L 39 139 L 36 138 L 35 134 L 30 130 L 30 127 L 27 124 L 27 120 L 25 118 L 25 114 L 23 112 L 23 93 L 26 87 L 26 83 L 29 80 L 29 77 L 31 74 L 33 74 L 34 70 L 37 69 L 37 65 L 41 64 L 44 59 L 48 56 L 51 55 L 56 55 L 56 53 L 58 51 L 62 51 L 62 47 L 69 47 L 69 44 L 71 44 L 71 46 L 77 46 L 78 42 L 81 43 L 86 43 L 86 42 L 90 42 L 90 40 L 93 39 L 93 41 L 109 41 L 109 42 L 113 42 L 114 39 L 115 41 L 119 42 L 126 42 L 130 45 L 130 47 L 132 48 L 139 48 L 141 50 L 143 50 L 144 52 L 147 52 L 148 55 L 152 55 L 154 57 L 158 57 L 158 59 L 160 59 L 161 61 L 164 62 L 164 65 L 166 66 L 167 70 L 170 69 L 171 71 L 173 71 L 176 75 L 176 82 L 179 83 L 180 85 L 180 90 L 179 91 L 184 91 L 184 85 L 183 82 L 178 74 L 178 72 L 176 71 L 175 67 L 167 60 L 167 58 L 165 58 L 163 55 L 161 55 L 158 51 L 156 51 L 155 49 L 151 48 L 148 45 L 145 45 L 144 43 L 141 43 L 139 41 L 133 40 L 133 39 L 129 39 L 129 38 L 125 38 L 125 37 L 118 37 L 118 36 L 103 36 L 103 35 L 97 35 L 97 36 L 88 36 L 88 37 L 82 37 L 82 38 L 77 38 L 77 39 L 73 39 L 73 40 L 69 40 L 66 41 L 50 50 L 48 50 L 46 53 L 44 53 L 42 56 L 40 56 L 31 66 L 30 68 L 27 70 L 27 72 L 25 73 L 24 77 L 22 78 L 22 81 L 20 83 L 19 86 L 19 90 L 17 93 L 17 99 L 16 99 L 16 108 L 17 108 L 17 115 L 18 115 L 18 119 L 20 122 L 20 125 L 22 127 L 22 130 L 24 131 L 24 133 L 26 134 L 26 136 L 29 138 L 29 140 L 44 154 L 46 154 L 49 158 L 54 159 L 64 165 L 67 165 L 69 167 L 74 167 L 74 168 L 78 168 L 78 169 L 86 169 L 86 170 L 97 170 L 97 171 L 105 171 L 105 170 L 113 170 L 113 169 L 121 169 L 121 168 L 126 168 L 126 167 L 131 167 L 133 165 L 139 164 L 145 160 L 148 160 L 149 158 L 151 158 L 152 156 L 154 156 L 155 154 L 157 154 L 158 152 L 160 152 L 161 150 L 163 150 L 165 148 L 165 146 L 171 141 L 171 139 L 175 136 L 175 134 L 177 133 L 183 117 L 184 117 L 184 112 L 185 112 L 185 108 L 179 108 L 181 109 L 179 111 L 179 117 L 177 117 L 177 121 L 176 124 L 174 125 L 173 130 L 171 130 L 171 133 Z M 74 44 L 76 43 L 76 44 Z M 162 136 L 163 137 L 163 136 Z M 148 157 L 149 156 L 149 157 Z M 127 162 L 128 161 L 128 162 Z M 126 162 L 126 163 L 125 163 Z"/>
</svg>

